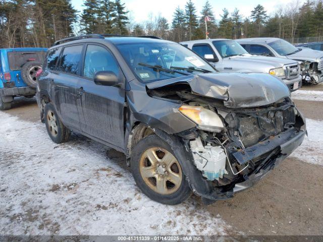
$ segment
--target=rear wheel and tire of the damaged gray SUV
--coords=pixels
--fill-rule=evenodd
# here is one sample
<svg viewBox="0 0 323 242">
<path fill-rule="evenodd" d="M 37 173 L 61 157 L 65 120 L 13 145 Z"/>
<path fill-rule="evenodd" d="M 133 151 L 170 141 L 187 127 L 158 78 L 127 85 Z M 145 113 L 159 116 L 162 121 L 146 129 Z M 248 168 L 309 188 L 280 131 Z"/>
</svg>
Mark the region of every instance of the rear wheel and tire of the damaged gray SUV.
<svg viewBox="0 0 323 242">
<path fill-rule="evenodd" d="M 51 103 L 45 105 L 44 119 L 47 133 L 53 142 L 60 144 L 68 141 L 71 131 L 63 125 Z"/>
</svg>

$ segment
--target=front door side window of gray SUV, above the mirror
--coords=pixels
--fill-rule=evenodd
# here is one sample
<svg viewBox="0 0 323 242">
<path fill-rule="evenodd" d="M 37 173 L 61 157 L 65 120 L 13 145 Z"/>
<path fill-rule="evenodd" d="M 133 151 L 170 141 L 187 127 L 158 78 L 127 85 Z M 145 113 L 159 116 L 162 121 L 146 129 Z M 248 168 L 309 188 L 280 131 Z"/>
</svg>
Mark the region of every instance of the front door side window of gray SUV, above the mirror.
<svg viewBox="0 0 323 242">
<path fill-rule="evenodd" d="M 112 53 L 98 45 L 88 45 L 84 60 L 83 76 L 93 79 L 98 71 L 111 71 L 119 75 L 119 65 Z"/>
</svg>

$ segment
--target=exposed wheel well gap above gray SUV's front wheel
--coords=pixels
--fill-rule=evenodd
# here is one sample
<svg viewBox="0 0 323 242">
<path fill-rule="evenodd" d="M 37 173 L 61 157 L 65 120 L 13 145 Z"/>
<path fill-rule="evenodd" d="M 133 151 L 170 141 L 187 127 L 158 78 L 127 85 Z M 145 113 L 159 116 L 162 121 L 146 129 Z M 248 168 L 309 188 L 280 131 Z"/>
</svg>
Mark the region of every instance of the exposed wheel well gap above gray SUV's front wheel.
<svg viewBox="0 0 323 242">
<path fill-rule="evenodd" d="M 132 128 L 127 145 L 127 159 L 131 156 L 132 148 L 144 137 L 154 134 L 154 131 L 142 123 L 137 123 Z"/>
</svg>

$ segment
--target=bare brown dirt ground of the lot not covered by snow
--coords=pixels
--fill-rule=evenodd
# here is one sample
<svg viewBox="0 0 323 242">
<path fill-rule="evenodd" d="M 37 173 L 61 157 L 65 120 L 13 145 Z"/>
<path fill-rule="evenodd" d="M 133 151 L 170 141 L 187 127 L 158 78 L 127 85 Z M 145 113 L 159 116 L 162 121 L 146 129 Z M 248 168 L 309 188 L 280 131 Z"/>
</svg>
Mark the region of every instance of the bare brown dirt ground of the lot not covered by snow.
<svg viewBox="0 0 323 242">
<path fill-rule="evenodd" d="M 323 91 L 323 85 L 302 90 Z M 323 102 L 295 100 L 307 118 L 323 120 Z M 17 98 L 6 111 L 20 119 L 39 122 L 35 99 Z M 309 150 L 315 156 L 315 150 Z M 111 159 L 124 155 L 110 151 Z M 123 168 L 124 164 L 121 165 Z M 218 201 L 207 210 L 237 232 L 250 235 L 323 235 L 323 166 L 286 159 L 253 188 L 233 199 Z M 194 198 L 198 199 L 198 198 Z M 198 211 L 196 211 L 198 212 Z"/>
</svg>

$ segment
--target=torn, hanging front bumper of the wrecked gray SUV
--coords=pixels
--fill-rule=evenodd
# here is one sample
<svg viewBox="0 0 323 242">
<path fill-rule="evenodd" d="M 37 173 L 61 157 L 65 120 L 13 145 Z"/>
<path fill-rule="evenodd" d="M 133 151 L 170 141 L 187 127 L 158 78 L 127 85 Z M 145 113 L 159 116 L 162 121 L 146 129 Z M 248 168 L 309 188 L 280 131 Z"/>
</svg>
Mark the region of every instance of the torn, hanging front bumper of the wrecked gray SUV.
<svg viewBox="0 0 323 242">
<path fill-rule="evenodd" d="M 268 171 L 280 164 L 288 155 L 290 155 L 304 140 L 306 134 L 305 130 L 297 130 L 295 128 L 283 132 L 277 136 L 260 142 L 254 146 L 246 148 L 245 152 L 236 152 L 233 155 L 237 158 L 239 163 L 246 163 L 252 161 L 263 154 L 273 151 L 270 155 L 258 161 L 255 169 L 248 174 L 241 175 L 236 183 L 222 187 L 212 187 L 208 193 L 199 193 L 195 191 L 205 204 L 213 203 L 216 200 L 223 200 L 232 198 L 234 193 L 246 190 L 255 185 L 261 178 L 263 178 Z M 274 152 L 274 151 L 277 152 Z M 245 153 L 245 154 L 243 154 Z M 198 188 L 198 185 L 193 185 Z"/>
</svg>

